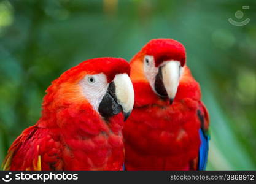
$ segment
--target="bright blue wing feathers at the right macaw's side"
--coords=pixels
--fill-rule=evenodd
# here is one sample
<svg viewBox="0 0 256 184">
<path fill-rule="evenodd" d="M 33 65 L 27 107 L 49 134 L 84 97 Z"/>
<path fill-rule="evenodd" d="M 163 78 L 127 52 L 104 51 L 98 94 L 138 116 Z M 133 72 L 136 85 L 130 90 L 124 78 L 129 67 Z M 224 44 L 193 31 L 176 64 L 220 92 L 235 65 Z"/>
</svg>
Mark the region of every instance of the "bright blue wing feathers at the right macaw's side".
<svg viewBox="0 0 256 184">
<path fill-rule="evenodd" d="M 198 170 L 205 170 L 208 158 L 208 150 L 209 150 L 209 136 L 204 134 L 203 130 L 200 128 L 199 131 L 201 145 L 199 149 L 198 156 Z"/>
</svg>

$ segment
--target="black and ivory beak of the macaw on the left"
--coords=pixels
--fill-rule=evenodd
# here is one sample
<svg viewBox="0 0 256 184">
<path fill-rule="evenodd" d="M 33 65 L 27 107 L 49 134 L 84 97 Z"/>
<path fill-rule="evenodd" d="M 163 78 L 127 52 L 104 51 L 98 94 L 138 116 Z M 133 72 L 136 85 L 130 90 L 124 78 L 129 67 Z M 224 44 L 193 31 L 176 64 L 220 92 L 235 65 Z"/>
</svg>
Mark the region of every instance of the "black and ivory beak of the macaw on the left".
<svg viewBox="0 0 256 184">
<path fill-rule="evenodd" d="M 127 74 L 117 74 L 109 83 L 107 93 L 99 104 L 99 113 L 103 117 L 117 115 L 123 111 L 125 120 L 129 117 L 134 105 L 134 90 Z"/>
</svg>

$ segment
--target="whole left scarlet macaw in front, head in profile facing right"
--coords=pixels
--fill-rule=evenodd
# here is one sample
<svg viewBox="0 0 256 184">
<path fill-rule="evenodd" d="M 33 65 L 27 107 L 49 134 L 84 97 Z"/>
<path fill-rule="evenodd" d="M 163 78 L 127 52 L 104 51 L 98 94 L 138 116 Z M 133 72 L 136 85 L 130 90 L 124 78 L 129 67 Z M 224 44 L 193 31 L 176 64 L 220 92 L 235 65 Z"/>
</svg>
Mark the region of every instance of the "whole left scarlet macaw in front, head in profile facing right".
<svg viewBox="0 0 256 184">
<path fill-rule="evenodd" d="M 124 118 L 134 104 L 125 59 L 80 63 L 52 82 L 36 125 L 9 148 L 4 170 L 122 170 Z"/>
</svg>

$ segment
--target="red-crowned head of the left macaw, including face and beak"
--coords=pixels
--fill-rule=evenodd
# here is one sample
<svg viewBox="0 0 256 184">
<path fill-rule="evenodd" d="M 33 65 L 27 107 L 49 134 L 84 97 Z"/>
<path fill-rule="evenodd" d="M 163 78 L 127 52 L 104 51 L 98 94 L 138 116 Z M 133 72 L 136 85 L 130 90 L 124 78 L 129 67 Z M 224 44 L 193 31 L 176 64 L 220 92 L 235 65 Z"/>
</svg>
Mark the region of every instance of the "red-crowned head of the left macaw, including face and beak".
<svg viewBox="0 0 256 184">
<path fill-rule="evenodd" d="M 87 111 L 107 119 L 123 112 L 126 120 L 134 104 L 129 75 L 130 66 L 125 59 L 83 61 L 52 82 L 44 98 L 42 116 L 63 117 L 68 113 L 79 117 Z"/>
</svg>

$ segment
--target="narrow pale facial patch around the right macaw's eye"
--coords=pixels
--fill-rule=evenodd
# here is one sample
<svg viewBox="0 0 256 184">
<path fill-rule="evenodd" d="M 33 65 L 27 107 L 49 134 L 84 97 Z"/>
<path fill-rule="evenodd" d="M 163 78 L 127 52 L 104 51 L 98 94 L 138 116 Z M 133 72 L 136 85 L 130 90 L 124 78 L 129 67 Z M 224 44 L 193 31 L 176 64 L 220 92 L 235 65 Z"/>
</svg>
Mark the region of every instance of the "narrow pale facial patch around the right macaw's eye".
<svg viewBox="0 0 256 184">
<path fill-rule="evenodd" d="M 155 91 L 155 77 L 158 74 L 158 67 L 155 67 L 155 59 L 153 56 L 145 55 L 144 58 L 144 74 L 149 80 L 149 84 L 153 91 Z"/>
</svg>

